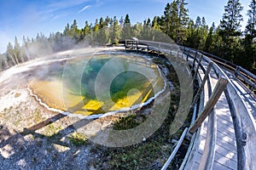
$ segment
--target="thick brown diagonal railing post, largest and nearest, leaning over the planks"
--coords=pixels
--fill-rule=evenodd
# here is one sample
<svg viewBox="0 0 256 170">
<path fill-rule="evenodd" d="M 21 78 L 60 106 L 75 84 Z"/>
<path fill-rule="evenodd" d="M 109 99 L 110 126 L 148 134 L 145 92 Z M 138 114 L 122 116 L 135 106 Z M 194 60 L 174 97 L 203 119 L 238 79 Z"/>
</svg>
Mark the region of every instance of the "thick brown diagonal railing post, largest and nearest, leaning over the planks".
<svg viewBox="0 0 256 170">
<path fill-rule="evenodd" d="M 225 77 L 220 77 L 218 79 L 217 85 L 212 92 L 212 96 L 208 100 L 207 105 L 204 107 L 204 109 L 201 113 L 201 116 L 199 116 L 196 119 L 196 121 L 192 127 L 189 127 L 189 133 L 195 133 L 195 131 L 199 127 L 201 127 L 201 123 L 205 121 L 207 116 L 209 116 L 209 114 L 211 113 L 213 107 L 217 104 L 218 99 L 219 99 L 220 95 L 224 92 L 224 89 L 226 88 L 228 82 L 229 81 Z"/>
</svg>

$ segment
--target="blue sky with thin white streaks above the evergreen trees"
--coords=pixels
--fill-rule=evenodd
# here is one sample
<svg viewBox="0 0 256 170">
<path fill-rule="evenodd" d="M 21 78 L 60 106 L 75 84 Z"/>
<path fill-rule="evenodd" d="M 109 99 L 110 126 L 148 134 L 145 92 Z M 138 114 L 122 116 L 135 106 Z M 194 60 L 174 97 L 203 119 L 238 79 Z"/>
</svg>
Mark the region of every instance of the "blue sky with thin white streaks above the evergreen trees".
<svg viewBox="0 0 256 170">
<path fill-rule="evenodd" d="M 218 26 L 228 0 L 186 0 L 189 17 L 205 16 L 207 24 Z M 49 36 L 49 32 L 63 31 L 67 23 L 78 21 L 79 28 L 85 20 L 95 23 L 101 16 L 129 14 L 131 22 L 142 22 L 148 17 L 162 15 L 166 3 L 172 0 L 0 0 L 0 53 L 5 52 L 8 42 L 17 36 L 36 37 L 38 32 Z M 250 0 L 241 0 L 244 7 L 243 27 L 247 23 Z M 243 29 L 243 28 L 242 28 Z"/>
</svg>

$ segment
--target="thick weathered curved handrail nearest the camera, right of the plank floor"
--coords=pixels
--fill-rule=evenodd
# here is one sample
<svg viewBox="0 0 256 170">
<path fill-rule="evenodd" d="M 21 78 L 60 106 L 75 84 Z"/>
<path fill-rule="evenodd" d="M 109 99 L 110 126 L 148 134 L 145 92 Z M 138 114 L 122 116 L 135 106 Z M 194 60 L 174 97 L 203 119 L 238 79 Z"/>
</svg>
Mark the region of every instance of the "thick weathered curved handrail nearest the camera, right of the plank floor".
<svg viewBox="0 0 256 170">
<path fill-rule="evenodd" d="M 204 56 L 204 59 L 210 63 L 211 59 Z M 233 118 L 235 133 L 236 133 L 236 146 L 237 146 L 237 159 L 238 159 L 238 169 L 254 169 L 253 162 L 253 150 L 255 150 L 256 141 L 256 124 L 254 122 L 253 116 L 248 112 L 247 106 L 241 99 L 240 95 L 236 92 L 236 87 L 231 83 L 229 77 L 220 69 L 220 67 L 213 63 L 213 70 L 218 74 L 218 77 L 226 77 L 230 83 L 228 83 L 225 90 L 225 95 L 228 98 L 228 103 L 230 105 L 230 113 Z M 232 96 L 232 98 L 231 98 Z M 243 115 L 240 115 L 240 114 Z M 250 127 L 247 129 L 247 127 Z M 250 139 L 248 139 L 250 137 Z M 244 139 L 245 138 L 245 139 Z M 247 147 L 245 147 L 243 141 L 249 141 Z M 251 143 L 251 144 L 250 144 Z M 253 156 L 254 157 L 254 156 Z"/>
</svg>

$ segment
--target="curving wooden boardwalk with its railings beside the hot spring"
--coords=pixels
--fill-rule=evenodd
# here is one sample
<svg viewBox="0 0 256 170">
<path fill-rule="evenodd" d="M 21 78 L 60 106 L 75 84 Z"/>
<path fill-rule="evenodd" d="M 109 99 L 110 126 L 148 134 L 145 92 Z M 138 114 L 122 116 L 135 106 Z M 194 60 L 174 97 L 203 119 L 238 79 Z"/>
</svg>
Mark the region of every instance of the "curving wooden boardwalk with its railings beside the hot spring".
<svg viewBox="0 0 256 170">
<path fill-rule="evenodd" d="M 207 83 L 202 84 L 198 117 L 220 77 L 228 80 L 209 116 L 190 136 L 189 149 L 180 169 L 256 169 L 256 98 L 247 88 L 256 86 L 256 77 L 252 73 L 212 54 L 172 43 L 126 40 L 125 48 L 147 54 L 172 55 L 177 57 L 177 62 L 194 69 L 199 82 L 207 76 Z M 210 63 L 213 65 L 207 75 Z M 162 169 L 166 169 L 166 165 Z"/>
</svg>

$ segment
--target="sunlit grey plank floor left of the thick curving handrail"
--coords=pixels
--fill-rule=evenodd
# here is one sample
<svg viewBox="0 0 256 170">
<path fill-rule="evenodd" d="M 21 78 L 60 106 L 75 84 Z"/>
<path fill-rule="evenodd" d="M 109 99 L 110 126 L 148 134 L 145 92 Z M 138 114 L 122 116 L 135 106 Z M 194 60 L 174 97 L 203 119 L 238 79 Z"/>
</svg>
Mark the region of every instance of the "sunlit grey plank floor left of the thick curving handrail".
<svg viewBox="0 0 256 170">
<path fill-rule="evenodd" d="M 207 63 L 203 63 L 202 65 L 207 68 Z M 204 77 L 204 72 L 199 71 L 200 76 Z M 210 72 L 210 84 L 213 89 L 218 82 L 218 77 L 214 73 L 214 71 Z M 206 105 L 209 99 L 208 93 L 208 85 L 205 85 L 205 96 L 204 96 L 204 105 Z M 212 91 L 212 89 L 210 89 Z M 236 135 L 235 129 L 232 121 L 232 117 L 230 114 L 229 104 L 227 99 L 225 98 L 224 93 L 221 94 L 220 99 L 218 100 L 217 105 L 214 108 L 215 115 L 209 116 L 208 119 L 203 122 L 200 130 L 198 131 L 199 135 L 197 136 L 197 140 L 195 147 L 193 148 L 193 154 L 189 156 L 189 161 L 187 162 L 184 169 L 199 169 L 201 167 L 201 161 L 205 157 L 204 150 L 206 146 L 207 140 L 207 131 L 212 127 L 212 124 L 209 125 L 209 119 L 216 126 L 216 144 L 214 147 L 214 161 L 212 162 L 213 169 L 237 169 L 237 154 L 236 154 Z M 210 127 L 208 127 L 208 125 Z"/>
</svg>

